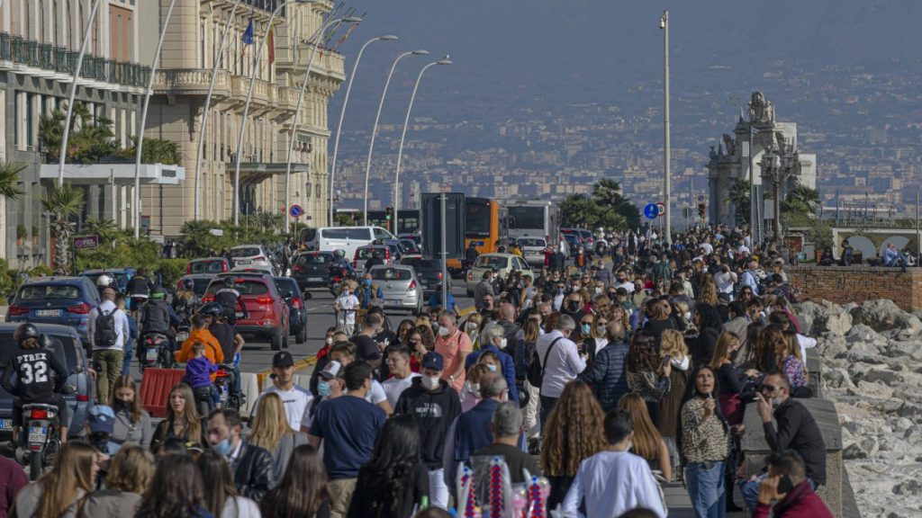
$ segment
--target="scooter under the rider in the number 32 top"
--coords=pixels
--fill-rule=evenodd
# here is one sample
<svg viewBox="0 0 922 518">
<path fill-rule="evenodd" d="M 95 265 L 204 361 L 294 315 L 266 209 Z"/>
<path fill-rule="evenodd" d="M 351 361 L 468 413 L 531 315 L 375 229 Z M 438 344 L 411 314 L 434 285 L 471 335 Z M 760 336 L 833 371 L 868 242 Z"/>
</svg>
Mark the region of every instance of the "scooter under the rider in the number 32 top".
<svg viewBox="0 0 922 518">
<path fill-rule="evenodd" d="M 64 389 L 64 394 L 76 392 L 77 387 L 72 385 Z M 29 465 L 30 480 L 37 480 L 46 466 L 54 464 L 54 457 L 61 450 L 59 426 L 56 405 L 30 403 L 22 406 L 16 460 L 21 465 Z"/>
</svg>

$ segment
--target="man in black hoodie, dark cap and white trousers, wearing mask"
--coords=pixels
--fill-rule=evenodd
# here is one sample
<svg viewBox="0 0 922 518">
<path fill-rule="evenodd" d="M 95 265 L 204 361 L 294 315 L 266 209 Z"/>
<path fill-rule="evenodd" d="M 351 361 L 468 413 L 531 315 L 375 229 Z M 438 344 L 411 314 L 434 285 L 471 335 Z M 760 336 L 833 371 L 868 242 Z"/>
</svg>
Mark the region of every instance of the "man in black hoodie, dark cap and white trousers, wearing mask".
<svg viewBox="0 0 922 518">
<path fill-rule="evenodd" d="M 420 426 L 422 462 L 429 468 L 429 497 L 433 506 L 448 508 L 448 486 L 443 480 L 443 450 L 448 429 L 461 413 L 458 393 L 442 379 L 442 355 L 430 351 L 422 357 L 419 378 L 400 394 L 395 414 L 416 418 Z"/>
</svg>

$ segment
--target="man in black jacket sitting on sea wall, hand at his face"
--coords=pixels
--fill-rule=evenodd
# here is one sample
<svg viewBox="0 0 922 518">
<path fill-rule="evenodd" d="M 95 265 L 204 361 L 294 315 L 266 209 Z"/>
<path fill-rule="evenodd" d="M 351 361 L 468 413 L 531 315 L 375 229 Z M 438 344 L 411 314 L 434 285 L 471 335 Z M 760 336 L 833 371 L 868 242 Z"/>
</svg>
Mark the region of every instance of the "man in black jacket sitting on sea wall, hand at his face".
<svg viewBox="0 0 922 518">
<path fill-rule="evenodd" d="M 774 412 L 773 412 L 774 409 Z M 778 423 L 775 430 L 772 416 Z M 769 372 L 762 380 L 759 394 L 759 417 L 765 441 L 773 452 L 793 450 L 804 460 L 807 479 L 813 489 L 826 483 L 826 443 L 810 410 L 791 398 L 791 383 L 782 371 Z M 759 499 L 762 478 L 743 483 L 742 494 L 751 510 Z"/>
</svg>

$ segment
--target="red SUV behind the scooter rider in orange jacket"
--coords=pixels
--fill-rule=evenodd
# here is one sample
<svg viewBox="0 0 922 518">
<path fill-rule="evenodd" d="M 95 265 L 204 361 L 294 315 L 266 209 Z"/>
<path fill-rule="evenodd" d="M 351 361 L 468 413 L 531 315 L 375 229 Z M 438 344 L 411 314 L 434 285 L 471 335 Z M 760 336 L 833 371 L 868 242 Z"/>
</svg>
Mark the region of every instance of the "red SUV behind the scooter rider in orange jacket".
<svg viewBox="0 0 922 518">
<path fill-rule="evenodd" d="M 276 288 L 272 277 L 263 273 L 220 274 L 212 279 L 203 302 L 215 300 L 215 291 L 224 286 L 224 279 L 232 277 L 234 288 L 241 294 L 246 314 L 237 308 L 237 332 L 241 335 L 260 336 L 269 340 L 272 350 L 289 346 L 289 306 Z"/>
</svg>

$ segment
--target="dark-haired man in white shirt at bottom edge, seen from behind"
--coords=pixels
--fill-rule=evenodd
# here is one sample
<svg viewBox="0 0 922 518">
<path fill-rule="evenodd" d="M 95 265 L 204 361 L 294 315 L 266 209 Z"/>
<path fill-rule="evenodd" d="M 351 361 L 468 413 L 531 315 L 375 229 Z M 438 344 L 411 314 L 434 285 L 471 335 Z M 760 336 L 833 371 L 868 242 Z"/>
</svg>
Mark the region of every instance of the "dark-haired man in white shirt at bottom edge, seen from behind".
<svg viewBox="0 0 922 518">
<path fill-rule="evenodd" d="M 579 465 L 573 485 L 563 499 L 563 515 L 615 518 L 643 507 L 666 518 L 666 506 L 650 466 L 642 457 L 628 452 L 633 439 L 631 416 L 610 411 L 605 416 L 605 436 L 609 447 Z M 585 514 L 578 511 L 584 501 Z"/>
</svg>

